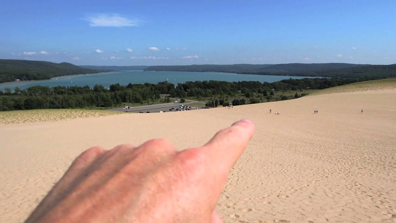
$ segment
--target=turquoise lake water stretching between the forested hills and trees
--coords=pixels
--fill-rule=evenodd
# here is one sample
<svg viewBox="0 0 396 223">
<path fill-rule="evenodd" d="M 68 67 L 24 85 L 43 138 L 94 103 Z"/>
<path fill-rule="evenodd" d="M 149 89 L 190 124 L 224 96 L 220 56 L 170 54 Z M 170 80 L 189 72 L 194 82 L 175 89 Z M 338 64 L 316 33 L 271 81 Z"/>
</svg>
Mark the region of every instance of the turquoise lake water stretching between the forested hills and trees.
<svg viewBox="0 0 396 223">
<path fill-rule="evenodd" d="M 71 75 L 52 78 L 42 81 L 14 81 L 1 83 L 0 90 L 4 88 L 15 87 L 21 89 L 29 88 L 35 85 L 42 86 L 85 86 L 93 87 L 94 85 L 103 85 L 109 88 L 110 85 L 119 83 L 120 85 L 128 85 L 129 83 L 158 83 L 168 81 L 177 85 L 177 83 L 185 83 L 186 81 L 260 81 L 275 82 L 283 79 L 302 79 L 307 77 L 291 77 L 291 76 L 269 76 L 269 75 L 249 75 L 235 73 L 213 73 L 213 72 L 173 72 L 173 71 L 114 71 L 109 73 Z"/>
</svg>

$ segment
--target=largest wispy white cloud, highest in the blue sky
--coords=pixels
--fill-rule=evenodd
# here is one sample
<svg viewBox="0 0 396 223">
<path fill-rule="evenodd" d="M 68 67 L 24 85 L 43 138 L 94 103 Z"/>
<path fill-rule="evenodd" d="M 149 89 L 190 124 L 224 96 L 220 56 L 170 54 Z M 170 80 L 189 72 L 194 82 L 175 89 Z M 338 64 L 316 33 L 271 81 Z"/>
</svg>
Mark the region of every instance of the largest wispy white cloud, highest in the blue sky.
<svg viewBox="0 0 396 223">
<path fill-rule="evenodd" d="M 89 26 L 91 27 L 123 27 L 123 26 L 139 26 L 144 21 L 121 16 L 118 14 L 108 15 L 108 14 L 97 14 L 85 17 L 83 20 L 89 21 Z"/>
</svg>

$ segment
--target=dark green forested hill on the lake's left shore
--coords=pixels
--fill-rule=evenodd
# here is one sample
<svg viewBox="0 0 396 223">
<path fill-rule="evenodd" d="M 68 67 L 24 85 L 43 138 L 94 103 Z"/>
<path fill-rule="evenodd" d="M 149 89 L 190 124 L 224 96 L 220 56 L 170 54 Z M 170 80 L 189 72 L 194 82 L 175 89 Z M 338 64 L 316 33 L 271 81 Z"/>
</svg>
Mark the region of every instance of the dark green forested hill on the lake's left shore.
<svg viewBox="0 0 396 223">
<path fill-rule="evenodd" d="M 109 72 L 110 70 L 94 70 L 73 65 L 71 63 L 51 63 L 32 60 L 1 60 L 0 83 L 27 80 L 45 80 L 51 77 L 76 75 L 84 73 Z"/>
</svg>

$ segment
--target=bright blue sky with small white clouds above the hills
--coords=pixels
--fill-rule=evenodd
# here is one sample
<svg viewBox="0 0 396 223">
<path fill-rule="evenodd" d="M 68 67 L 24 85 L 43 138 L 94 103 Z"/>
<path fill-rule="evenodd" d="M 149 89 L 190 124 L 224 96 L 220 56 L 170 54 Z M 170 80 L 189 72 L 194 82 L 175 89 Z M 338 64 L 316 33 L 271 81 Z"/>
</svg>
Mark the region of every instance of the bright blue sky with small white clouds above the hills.
<svg viewBox="0 0 396 223">
<path fill-rule="evenodd" d="M 395 12 L 395 0 L 2 0 L 0 58 L 76 65 L 392 64 Z"/>
</svg>

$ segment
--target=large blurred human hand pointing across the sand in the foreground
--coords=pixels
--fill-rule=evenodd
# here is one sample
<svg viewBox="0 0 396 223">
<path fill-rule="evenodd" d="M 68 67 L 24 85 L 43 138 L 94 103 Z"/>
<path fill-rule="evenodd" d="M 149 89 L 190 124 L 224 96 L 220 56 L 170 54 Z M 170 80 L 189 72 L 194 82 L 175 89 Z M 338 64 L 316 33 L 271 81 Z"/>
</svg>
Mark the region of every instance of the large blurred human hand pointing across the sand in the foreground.
<svg viewBox="0 0 396 223">
<path fill-rule="evenodd" d="M 90 148 L 26 222 L 222 222 L 215 206 L 253 132 L 241 120 L 181 152 L 164 139 Z"/>
</svg>

